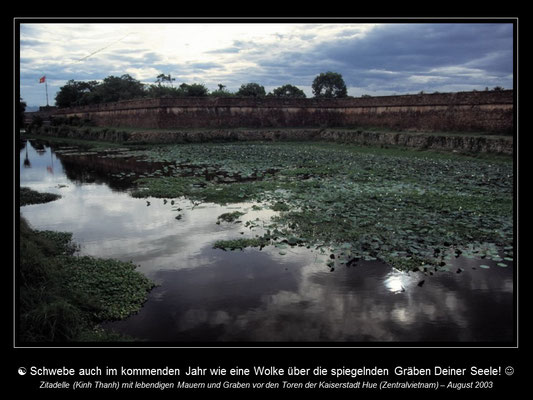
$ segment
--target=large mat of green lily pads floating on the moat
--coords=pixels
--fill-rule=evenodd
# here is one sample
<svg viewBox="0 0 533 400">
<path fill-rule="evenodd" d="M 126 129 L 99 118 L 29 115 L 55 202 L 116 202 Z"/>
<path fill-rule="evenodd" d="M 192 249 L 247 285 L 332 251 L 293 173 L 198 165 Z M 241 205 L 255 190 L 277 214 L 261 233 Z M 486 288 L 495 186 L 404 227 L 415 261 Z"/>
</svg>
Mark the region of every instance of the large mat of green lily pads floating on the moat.
<svg viewBox="0 0 533 400">
<path fill-rule="evenodd" d="M 279 216 L 270 234 L 249 246 L 297 238 L 336 263 L 381 259 L 401 269 L 437 268 L 456 250 L 477 257 L 494 246 L 512 258 L 508 156 L 294 142 L 161 146 L 137 155 L 166 163 L 167 176 L 139 180 L 135 196 L 271 204 Z"/>
</svg>

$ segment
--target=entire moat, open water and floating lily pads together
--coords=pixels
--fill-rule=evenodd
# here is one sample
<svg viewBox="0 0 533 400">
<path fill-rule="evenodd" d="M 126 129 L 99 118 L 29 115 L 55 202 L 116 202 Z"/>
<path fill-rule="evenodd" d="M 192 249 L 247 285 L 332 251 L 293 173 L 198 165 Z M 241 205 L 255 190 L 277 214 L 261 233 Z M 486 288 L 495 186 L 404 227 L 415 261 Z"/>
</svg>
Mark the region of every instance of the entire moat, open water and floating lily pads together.
<svg viewBox="0 0 533 400">
<path fill-rule="evenodd" d="M 157 284 L 138 313 L 107 322 L 105 329 L 172 344 L 512 343 L 510 162 L 436 157 L 431 165 L 442 176 L 434 179 L 422 172 L 430 165 L 425 159 L 386 152 L 375 158 L 354 150 L 352 156 L 367 157 L 368 166 L 356 176 L 346 172 L 359 168 L 348 157 L 337 169 L 337 161 L 316 167 L 312 153 L 327 157 L 327 145 L 300 149 L 290 165 L 284 151 L 293 144 L 269 147 L 270 158 L 253 168 L 246 160 L 264 154 L 262 144 L 194 146 L 189 151 L 21 142 L 20 186 L 61 195 L 21 207 L 30 225 L 72 232 L 80 255 L 132 261 Z M 196 152 L 206 154 L 205 162 Z M 393 163 L 391 170 L 381 171 L 380 162 Z M 420 173 L 384 181 L 395 166 L 408 165 Z M 450 182 L 457 185 L 453 196 Z M 271 194 L 257 194 L 253 185 Z M 238 195 L 220 201 L 230 187 Z M 332 188 L 339 190 L 337 197 L 328 197 Z M 358 207 L 376 204 L 379 214 L 367 212 L 366 221 L 350 214 L 345 205 L 353 193 L 361 196 Z M 442 218 L 424 232 L 409 209 L 418 210 L 427 199 L 440 208 L 416 216 Z M 335 212 L 313 214 L 318 200 Z M 483 214 L 487 207 L 494 218 Z M 456 215 L 449 215 L 452 208 Z M 219 218 L 231 213 L 236 220 Z M 350 218 L 376 235 L 364 239 Z M 491 233 L 494 226 L 501 231 Z M 339 227 L 345 232 L 337 238 Z M 337 240 L 343 235 L 347 239 Z M 335 240 L 328 244 L 328 237 Z M 261 245 L 230 248 L 236 240 L 257 238 Z M 471 242 L 456 245 L 464 238 Z M 397 249 L 406 249 L 408 257 Z M 429 253 L 440 254 L 443 265 L 402 268 L 403 258 L 426 262 Z"/>
</svg>

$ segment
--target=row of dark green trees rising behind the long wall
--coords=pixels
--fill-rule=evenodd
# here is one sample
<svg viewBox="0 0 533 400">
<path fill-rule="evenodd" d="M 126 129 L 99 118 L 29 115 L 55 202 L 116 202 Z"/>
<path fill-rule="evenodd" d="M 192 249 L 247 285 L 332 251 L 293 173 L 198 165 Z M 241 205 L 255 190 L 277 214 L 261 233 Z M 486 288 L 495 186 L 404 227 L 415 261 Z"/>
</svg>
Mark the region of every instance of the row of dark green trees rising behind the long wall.
<svg viewBox="0 0 533 400">
<path fill-rule="evenodd" d="M 236 92 L 230 92 L 225 85 L 219 84 L 217 90 L 210 92 L 201 83 L 182 83 L 174 86 L 174 81 L 175 78 L 170 74 L 159 74 L 154 84 L 143 84 L 129 74 L 119 77 L 111 75 L 102 82 L 69 80 L 59 89 L 55 101 L 56 106 L 64 108 L 158 97 L 306 97 L 303 90 L 291 84 L 277 87 L 267 94 L 264 86 L 255 82 L 242 84 Z M 342 75 L 336 72 L 328 71 L 317 75 L 311 87 L 314 97 L 317 98 L 348 96 L 346 83 Z"/>
</svg>

